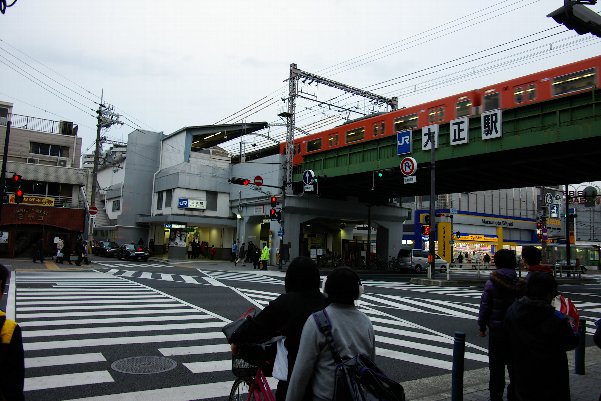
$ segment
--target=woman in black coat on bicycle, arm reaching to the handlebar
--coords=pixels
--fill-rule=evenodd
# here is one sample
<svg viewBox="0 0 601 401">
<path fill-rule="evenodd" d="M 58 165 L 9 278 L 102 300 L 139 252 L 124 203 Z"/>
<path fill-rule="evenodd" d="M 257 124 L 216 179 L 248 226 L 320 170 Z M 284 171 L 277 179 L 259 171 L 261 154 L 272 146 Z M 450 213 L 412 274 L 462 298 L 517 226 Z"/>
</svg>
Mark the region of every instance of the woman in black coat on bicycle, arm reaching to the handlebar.
<svg viewBox="0 0 601 401">
<path fill-rule="evenodd" d="M 278 383 L 277 401 L 286 399 L 305 321 L 313 312 L 326 307 L 326 299 L 319 290 L 319 270 L 311 259 L 300 256 L 290 262 L 284 283 L 286 293 L 271 301 L 231 338 L 232 352 L 237 353 L 239 344 L 263 343 L 272 337 L 286 336 L 288 380 Z"/>
</svg>

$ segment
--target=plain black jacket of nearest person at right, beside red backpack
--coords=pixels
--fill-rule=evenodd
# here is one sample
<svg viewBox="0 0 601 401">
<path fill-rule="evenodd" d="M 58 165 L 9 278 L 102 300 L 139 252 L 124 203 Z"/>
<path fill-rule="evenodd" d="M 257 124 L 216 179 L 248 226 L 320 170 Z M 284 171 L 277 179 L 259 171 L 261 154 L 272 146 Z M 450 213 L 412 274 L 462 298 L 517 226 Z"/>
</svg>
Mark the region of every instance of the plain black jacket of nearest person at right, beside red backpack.
<svg viewBox="0 0 601 401">
<path fill-rule="evenodd" d="M 507 310 L 515 391 L 520 401 L 569 401 L 566 351 L 578 336 L 568 319 L 549 303 L 522 297 Z"/>
</svg>

